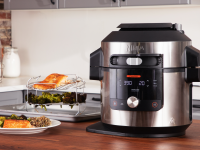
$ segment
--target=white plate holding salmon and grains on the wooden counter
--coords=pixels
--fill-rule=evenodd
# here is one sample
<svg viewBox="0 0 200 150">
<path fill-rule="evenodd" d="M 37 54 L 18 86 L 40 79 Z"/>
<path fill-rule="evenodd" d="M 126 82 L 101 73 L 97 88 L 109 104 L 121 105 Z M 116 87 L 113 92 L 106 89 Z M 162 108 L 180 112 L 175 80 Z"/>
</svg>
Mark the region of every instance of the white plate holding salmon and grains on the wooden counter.
<svg viewBox="0 0 200 150">
<path fill-rule="evenodd" d="M 37 128 L 0 128 L 0 133 L 2 134 L 35 134 L 43 132 L 44 130 L 52 127 L 59 126 L 61 124 L 58 120 L 51 120 L 51 125 L 47 127 L 37 127 Z"/>
</svg>

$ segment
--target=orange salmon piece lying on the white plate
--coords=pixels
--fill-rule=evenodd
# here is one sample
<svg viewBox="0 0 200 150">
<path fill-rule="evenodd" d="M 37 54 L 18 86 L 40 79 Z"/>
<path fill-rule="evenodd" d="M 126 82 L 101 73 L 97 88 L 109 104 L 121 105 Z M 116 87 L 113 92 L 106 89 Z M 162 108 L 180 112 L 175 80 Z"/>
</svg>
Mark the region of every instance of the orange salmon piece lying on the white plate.
<svg viewBox="0 0 200 150">
<path fill-rule="evenodd" d="M 7 119 L 4 121 L 3 128 L 31 128 L 31 124 L 28 120 L 14 120 Z"/>
</svg>

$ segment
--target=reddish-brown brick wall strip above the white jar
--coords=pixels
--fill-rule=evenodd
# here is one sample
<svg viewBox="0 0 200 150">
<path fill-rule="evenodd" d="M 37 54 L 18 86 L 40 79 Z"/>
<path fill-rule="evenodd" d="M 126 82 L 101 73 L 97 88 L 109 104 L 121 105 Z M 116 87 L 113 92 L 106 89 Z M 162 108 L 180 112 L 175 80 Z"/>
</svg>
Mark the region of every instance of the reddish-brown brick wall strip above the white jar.
<svg viewBox="0 0 200 150">
<path fill-rule="evenodd" d="M 10 46 L 11 41 L 11 11 L 0 10 L 0 38 L 3 46 Z"/>
</svg>

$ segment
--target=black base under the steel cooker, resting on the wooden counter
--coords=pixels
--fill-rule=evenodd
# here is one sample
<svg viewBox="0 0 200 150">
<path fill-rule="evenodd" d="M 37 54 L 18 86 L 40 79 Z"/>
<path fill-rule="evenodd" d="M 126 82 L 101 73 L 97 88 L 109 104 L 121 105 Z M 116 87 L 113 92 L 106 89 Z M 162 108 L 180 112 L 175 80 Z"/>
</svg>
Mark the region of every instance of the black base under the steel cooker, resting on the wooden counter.
<svg viewBox="0 0 200 150">
<path fill-rule="evenodd" d="M 160 137 L 176 137 L 185 134 L 185 130 L 190 126 L 174 126 L 174 127 L 125 127 L 104 124 L 101 121 L 86 128 L 87 132 L 108 134 L 126 137 L 141 138 L 160 138 Z"/>
</svg>

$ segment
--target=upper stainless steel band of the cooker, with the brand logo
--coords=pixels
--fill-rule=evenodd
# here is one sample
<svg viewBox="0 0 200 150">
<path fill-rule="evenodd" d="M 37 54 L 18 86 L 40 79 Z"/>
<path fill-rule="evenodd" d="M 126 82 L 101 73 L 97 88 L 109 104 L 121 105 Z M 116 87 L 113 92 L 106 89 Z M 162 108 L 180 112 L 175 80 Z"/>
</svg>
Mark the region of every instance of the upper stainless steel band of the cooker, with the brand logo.
<svg viewBox="0 0 200 150">
<path fill-rule="evenodd" d="M 138 54 L 136 50 L 127 50 L 131 45 L 142 46 L 139 53 L 146 54 L 163 54 L 163 67 L 184 67 L 184 49 L 191 45 L 191 41 L 184 42 L 104 42 L 102 43 L 104 57 L 104 67 L 109 67 L 110 56 L 113 54 Z"/>
</svg>

